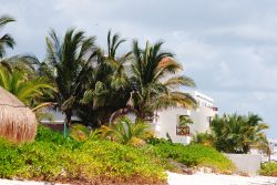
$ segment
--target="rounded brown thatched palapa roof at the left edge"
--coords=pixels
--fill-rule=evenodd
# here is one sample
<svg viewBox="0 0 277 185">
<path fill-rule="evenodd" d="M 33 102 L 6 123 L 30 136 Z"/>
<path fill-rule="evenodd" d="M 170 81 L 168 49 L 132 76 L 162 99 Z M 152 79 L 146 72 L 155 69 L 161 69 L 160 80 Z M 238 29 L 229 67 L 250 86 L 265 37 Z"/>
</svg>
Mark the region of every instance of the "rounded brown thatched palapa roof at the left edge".
<svg viewBox="0 0 277 185">
<path fill-rule="evenodd" d="M 35 132 L 35 114 L 0 86 L 0 137 L 17 143 L 30 142 Z"/>
</svg>

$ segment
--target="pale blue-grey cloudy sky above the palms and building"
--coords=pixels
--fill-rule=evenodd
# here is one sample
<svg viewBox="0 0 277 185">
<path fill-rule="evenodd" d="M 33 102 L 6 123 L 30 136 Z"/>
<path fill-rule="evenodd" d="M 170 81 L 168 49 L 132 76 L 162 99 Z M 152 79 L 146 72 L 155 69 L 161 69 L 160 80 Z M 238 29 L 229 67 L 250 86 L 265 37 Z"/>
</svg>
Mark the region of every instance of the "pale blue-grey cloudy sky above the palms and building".
<svg viewBox="0 0 277 185">
<path fill-rule="evenodd" d="M 162 39 L 212 96 L 220 113 L 254 112 L 277 137 L 277 1 L 274 0 L 0 0 L 0 13 L 17 19 L 6 32 L 9 54 L 45 55 L 50 28 L 79 28 L 105 44 L 109 29 L 142 43 Z M 126 42 L 122 52 L 130 48 Z"/>
</svg>

